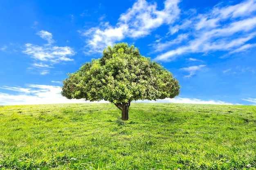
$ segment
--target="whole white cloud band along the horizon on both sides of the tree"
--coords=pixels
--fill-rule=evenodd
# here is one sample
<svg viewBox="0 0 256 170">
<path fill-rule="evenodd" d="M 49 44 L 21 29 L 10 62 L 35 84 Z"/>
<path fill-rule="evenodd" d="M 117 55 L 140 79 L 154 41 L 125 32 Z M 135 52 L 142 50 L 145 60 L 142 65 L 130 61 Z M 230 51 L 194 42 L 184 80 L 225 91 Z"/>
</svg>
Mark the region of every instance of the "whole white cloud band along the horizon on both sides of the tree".
<svg viewBox="0 0 256 170">
<path fill-rule="evenodd" d="M 54 81 L 53 81 L 54 82 Z M 16 92 L 15 94 L 0 93 L 0 105 L 23 105 L 23 104 L 64 104 L 64 103 L 109 103 L 107 101 L 88 102 L 84 99 L 67 99 L 61 96 L 61 86 L 26 84 L 22 87 L 1 86 L 0 88 Z M 173 99 L 159 99 L 157 101 L 138 100 L 143 103 L 184 103 L 184 104 L 229 104 L 233 103 L 201 100 L 195 98 L 175 97 Z"/>
</svg>

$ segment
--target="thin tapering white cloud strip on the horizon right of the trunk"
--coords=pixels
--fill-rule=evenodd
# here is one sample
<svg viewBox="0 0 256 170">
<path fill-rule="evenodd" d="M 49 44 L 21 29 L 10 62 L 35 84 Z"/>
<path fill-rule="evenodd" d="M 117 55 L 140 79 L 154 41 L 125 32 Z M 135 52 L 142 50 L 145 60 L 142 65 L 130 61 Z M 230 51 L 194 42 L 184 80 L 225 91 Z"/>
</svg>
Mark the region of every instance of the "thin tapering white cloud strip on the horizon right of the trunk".
<svg viewBox="0 0 256 170">
<path fill-rule="evenodd" d="M 135 102 L 145 102 L 145 103 L 184 103 L 184 104 L 222 104 L 222 105 L 234 105 L 233 103 L 223 102 L 220 100 L 201 100 L 195 98 L 182 98 L 182 97 L 175 97 L 173 99 L 166 98 L 166 99 L 159 99 L 157 101 L 154 100 L 138 100 Z M 238 105 L 238 103 L 235 103 Z"/>
</svg>

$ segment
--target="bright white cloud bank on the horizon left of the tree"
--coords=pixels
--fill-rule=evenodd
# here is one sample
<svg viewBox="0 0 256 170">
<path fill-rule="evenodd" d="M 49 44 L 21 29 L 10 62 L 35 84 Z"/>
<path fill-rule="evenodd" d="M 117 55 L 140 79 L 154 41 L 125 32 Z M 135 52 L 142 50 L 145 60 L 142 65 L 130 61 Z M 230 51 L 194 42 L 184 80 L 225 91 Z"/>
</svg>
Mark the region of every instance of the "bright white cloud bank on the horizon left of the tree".
<svg viewBox="0 0 256 170">
<path fill-rule="evenodd" d="M 83 99 L 70 100 L 61 96 L 61 86 L 27 84 L 26 88 L 9 86 L 0 88 L 18 92 L 18 94 L 0 93 L 0 105 L 85 103 Z"/>
</svg>

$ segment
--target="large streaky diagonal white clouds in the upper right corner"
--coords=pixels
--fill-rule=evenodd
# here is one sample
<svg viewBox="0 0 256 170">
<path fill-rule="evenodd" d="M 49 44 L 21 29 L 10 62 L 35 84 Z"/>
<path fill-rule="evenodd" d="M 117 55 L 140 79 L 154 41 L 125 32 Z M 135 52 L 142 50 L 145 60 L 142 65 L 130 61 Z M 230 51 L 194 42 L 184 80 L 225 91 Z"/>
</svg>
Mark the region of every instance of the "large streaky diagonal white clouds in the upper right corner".
<svg viewBox="0 0 256 170">
<path fill-rule="evenodd" d="M 173 40 L 155 44 L 156 52 L 159 52 L 161 46 L 165 46 L 162 51 L 167 50 L 155 60 L 171 61 L 187 53 L 236 53 L 254 47 L 254 44 L 247 43 L 256 37 L 256 1 L 247 0 L 225 7 L 222 5 L 218 4 L 208 13 L 194 13 L 192 17 L 188 16 L 181 21 L 182 24 L 171 26 Z M 180 32 L 188 34 L 189 41 L 179 45 L 171 43 L 178 42 L 182 35 Z"/>
</svg>

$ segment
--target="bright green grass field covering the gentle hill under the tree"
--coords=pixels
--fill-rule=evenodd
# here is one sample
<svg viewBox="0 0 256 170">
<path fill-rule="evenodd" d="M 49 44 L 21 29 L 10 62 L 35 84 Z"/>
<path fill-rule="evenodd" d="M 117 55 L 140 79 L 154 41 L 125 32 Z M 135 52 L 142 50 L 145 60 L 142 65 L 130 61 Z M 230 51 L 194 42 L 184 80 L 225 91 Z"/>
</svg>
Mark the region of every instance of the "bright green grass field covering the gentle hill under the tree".
<svg viewBox="0 0 256 170">
<path fill-rule="evenodd" d="M 256 170 L 256 106 L 0 106 L 0 169 Z"/>
</svg>

